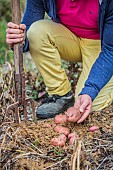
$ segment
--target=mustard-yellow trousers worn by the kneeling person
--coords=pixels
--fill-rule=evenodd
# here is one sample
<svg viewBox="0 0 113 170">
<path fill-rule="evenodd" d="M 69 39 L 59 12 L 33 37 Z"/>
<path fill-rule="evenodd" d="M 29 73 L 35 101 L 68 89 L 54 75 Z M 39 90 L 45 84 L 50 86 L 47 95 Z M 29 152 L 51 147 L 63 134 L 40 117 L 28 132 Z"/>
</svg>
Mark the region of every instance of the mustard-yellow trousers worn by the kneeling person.
<svg viewBox="0 0 113 170">
<path fill-rule="evenodd" d="M 41 73 L 47 92 L 65 95 L 71 90 L 61 59 L 82 62 L 75 98 L 84 87 L 90 69 L 101 51 L 100 40 L 77 37 L 69 29 L 51 20 L 40 20 L 31 25 L 28 31 L 31 56 Z M 93 111 L 101 110 L 113 100 L 113 78 L 100 91 L 93 101 Z"/>
</svg>

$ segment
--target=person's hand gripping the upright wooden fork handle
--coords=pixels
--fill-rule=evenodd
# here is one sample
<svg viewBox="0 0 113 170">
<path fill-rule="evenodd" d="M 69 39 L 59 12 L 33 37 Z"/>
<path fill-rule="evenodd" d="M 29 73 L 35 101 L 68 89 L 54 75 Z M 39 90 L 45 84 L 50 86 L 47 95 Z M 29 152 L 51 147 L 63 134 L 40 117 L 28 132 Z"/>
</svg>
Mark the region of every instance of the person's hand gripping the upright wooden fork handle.
<svg viewBox="0 0 113 170">
<path fill-rule="evenodd" d="M 7 24 L 6 30 L 6 43 L 13 47 L 14 44 L 25 41 L 25 33 L 26 32 L 26 25 L 25 24 L 14 24 L 9 22 Z"/>
</svg>

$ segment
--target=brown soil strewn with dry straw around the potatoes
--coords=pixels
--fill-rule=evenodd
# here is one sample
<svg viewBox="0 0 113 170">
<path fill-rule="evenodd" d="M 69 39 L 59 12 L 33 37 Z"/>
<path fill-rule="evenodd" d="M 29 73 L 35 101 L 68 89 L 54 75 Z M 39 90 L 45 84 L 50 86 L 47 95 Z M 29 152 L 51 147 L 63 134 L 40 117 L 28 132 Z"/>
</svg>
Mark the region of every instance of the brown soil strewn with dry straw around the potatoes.
<svg viewBox="0 0 113 170">
<path fill-rule="evenodd" d="M 32 121 L 15 124 L 3 113 L 0 119 L 2 170 L 70 170 L 73 166 L 77 169 L 76 160 L 80 161 L 80 170 L 113 168 L 113 104 L 92 113 L 84 123 L 63 124 L 79 136 L 73 145 L 67 139 L 64 147 L 50 145 L 50 140 L 58 136 L 51 127 L 55 125 L 54 119 L 38 120 L 37 125 Z M 94 125 L 99 130 L 90 132 Z M 80 155 L 76 157 L 79 143 Z"/>
</svg>

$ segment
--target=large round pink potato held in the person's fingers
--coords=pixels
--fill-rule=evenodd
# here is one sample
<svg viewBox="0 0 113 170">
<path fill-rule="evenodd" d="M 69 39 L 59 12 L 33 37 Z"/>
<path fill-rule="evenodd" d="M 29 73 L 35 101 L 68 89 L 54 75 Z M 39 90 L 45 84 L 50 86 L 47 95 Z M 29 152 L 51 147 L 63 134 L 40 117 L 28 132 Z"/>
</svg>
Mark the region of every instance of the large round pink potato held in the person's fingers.
<svg viewBox="0 0 113 170">
<path fill-rule="evenodd" d="M 67 110 L 66 115 L 68 122 L 77 122 L 81 118 L 82 113 L 79 110 L 79 106 L 76 105 L 74 107 L 70 107 Z"/>
</svg>

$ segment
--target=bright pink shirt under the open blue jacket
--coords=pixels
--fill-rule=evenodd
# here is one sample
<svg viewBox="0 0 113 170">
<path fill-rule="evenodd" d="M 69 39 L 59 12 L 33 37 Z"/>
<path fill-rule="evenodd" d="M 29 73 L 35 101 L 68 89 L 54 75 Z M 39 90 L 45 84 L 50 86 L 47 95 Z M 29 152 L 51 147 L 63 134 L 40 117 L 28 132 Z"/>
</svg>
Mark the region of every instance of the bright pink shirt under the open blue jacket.
<svg viewBox="0 0 113 170">
<path fill-rule="evenodd" d="M 61 23 L 78 37 L 100 39 L 98 0 L 56 0 Z"/>
</svg>

